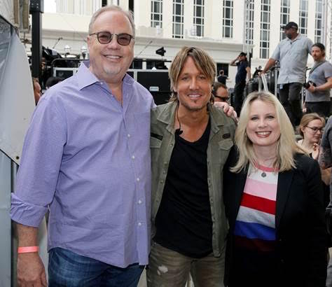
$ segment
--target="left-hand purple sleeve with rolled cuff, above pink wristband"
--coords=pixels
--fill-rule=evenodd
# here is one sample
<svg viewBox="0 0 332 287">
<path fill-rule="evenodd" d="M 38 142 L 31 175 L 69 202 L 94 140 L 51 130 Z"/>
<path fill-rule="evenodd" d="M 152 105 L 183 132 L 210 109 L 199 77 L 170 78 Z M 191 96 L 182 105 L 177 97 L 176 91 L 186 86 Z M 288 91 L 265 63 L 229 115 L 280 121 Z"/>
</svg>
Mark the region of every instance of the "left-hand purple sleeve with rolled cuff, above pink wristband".
<svg viewBox="0 0 332 287">
<path fill-rule="evenodd" d="M 53 200 L 67 139 L 65 118 L 56 97 L 48 94 L 41 98 L 25 136 L 11 197 L 15 222 L 38 227 Z"/>
</svg>

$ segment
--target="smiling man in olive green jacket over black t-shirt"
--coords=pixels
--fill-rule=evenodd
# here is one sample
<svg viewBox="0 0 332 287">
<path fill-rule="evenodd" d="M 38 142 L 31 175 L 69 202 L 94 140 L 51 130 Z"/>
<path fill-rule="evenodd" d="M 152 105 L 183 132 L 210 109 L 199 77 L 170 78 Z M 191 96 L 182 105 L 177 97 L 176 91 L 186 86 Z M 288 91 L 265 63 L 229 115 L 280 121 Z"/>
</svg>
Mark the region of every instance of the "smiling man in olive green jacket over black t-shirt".
<svg viewBox="0 0 332 287">
<path fill-rule="evenodd" d="M 223 165 L 235 121 L 212 105 L 215 65 L 184 47 L 170 67 L 170 103 L 151 111 L 152 235 L 148 287 L 223 286 L 228 223 Z"/>
</svg>

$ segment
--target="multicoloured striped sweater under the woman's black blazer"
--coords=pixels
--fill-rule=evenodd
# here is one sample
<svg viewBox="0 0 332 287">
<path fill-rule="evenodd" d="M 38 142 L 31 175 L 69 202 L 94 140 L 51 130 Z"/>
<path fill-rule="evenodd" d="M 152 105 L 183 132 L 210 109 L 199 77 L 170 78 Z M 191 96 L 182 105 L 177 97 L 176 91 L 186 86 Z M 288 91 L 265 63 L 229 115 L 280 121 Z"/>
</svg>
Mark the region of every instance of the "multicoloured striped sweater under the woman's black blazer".
<svg viewBox="0 0 332 287">
<path fill-rule="evenodd" d="M 268 167 L 249 167 L 235 221 L 235 247 L 251 251 L 275 250 L 275 200 L 278 173 Z"/>
</svg>

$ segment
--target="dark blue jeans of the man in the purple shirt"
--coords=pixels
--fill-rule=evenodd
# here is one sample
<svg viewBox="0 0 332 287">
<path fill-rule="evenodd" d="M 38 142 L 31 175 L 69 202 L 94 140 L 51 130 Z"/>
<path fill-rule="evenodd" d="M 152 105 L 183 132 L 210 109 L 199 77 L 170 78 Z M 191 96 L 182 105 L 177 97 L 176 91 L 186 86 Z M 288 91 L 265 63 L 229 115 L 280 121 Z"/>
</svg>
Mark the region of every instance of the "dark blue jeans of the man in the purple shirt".
<svg viewBox="0 0 332 287">
<path fill-rule="evenodd" d="M 136 287 L 143 269 L 138 264 L 116 267 L 57 247 L 49 253 L 48 286 Z"/>
</svg>

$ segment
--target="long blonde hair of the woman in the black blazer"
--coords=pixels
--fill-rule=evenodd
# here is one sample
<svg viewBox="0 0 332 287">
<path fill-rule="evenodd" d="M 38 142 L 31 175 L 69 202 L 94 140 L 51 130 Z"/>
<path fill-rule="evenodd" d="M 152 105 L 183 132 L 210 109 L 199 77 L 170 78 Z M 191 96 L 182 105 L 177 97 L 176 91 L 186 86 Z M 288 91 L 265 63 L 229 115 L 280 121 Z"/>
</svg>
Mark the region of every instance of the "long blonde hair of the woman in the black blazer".
<svg viewBox="0 0 332 287">
<path fill-rule="evenodd" d="M 239 160 L 237 160 L 235 167 L 232 167 L 230 170 L 232 172 L 240 172 L 247 167 L 249 162 L 251 165 L 258 163 L 252 142 L 247 137 L 246 132 L 251 104 L 256 100 L 272 104 L 275 107 L 276 117 L 280 127 L 280 137 L 277 140 L 277 158 L 273 163 L 273 167 L 275 170 L 279 170 L 279 172 L 295 168 L 296 164 L 293 155 L 295 153 L 303 153 L 304 151 L 296 144 L 293 126 L 291 125 L 291 121 L 284 107 L 280 104 L 277 97 L 270 92 L 251 92 L 243 104 L 235 132 L 235 143 L 239 149 Z"/>
</svg>

